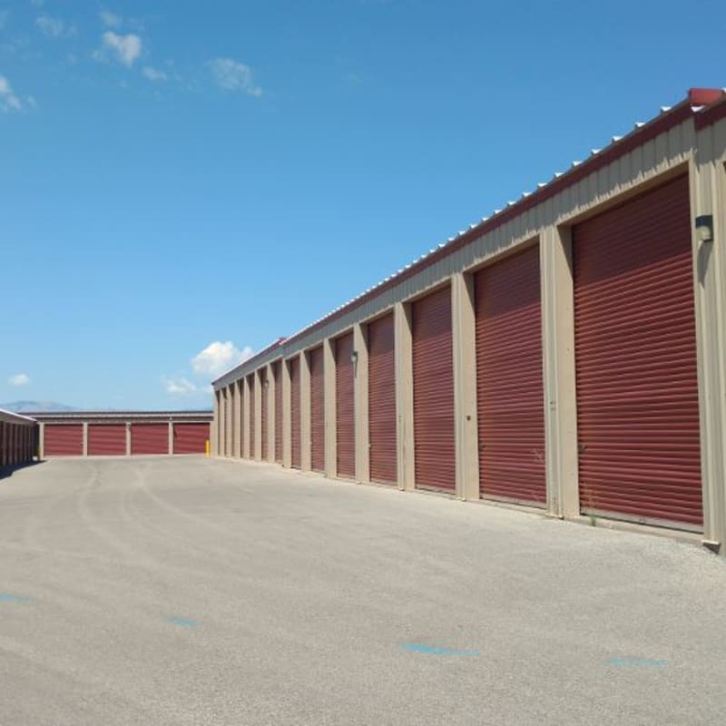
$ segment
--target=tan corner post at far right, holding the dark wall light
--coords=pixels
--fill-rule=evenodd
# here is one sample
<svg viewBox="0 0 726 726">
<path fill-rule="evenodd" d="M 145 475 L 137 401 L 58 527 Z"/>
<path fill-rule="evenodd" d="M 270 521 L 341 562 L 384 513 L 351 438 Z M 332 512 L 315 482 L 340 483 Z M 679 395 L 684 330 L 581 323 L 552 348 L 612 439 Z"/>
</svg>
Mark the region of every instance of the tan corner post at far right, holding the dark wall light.
<svg viewBox="0 0 726 726">
<path fill-rule="evenodd" d="M 726 121 L 701 129 L 691 162 L 696 347 L 701 425 L 703 544 L 726 556 Z M 697 217 L 711 216 L 712 240 Z"/>
</svg>

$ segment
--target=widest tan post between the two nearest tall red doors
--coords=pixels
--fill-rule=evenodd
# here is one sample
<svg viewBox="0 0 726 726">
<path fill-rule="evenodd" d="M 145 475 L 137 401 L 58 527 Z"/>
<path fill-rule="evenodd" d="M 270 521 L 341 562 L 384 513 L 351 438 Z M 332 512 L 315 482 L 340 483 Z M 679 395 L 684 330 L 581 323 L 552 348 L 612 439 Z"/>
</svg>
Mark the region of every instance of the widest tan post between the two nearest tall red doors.
<svg viewBox="0 0 726 726">
<path fill-rule="evenodd" d="M 547 513 L 572 518 L 580 515 L 580 491 L 571 229 L 546 227 L 540 237 L 539 255 Z"/>
</svg>

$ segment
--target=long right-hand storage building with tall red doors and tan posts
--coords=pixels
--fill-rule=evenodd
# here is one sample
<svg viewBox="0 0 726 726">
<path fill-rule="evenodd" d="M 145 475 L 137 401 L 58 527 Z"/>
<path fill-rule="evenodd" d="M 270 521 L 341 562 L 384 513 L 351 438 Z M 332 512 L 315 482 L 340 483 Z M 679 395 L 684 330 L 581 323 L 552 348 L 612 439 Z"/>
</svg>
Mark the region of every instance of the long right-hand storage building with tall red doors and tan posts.
<svg viewBox="0 0 726 726">
<path fill-rule="evenodd" d="M 726 100 L 692 91 L 215 388 L 214 453 L 726 535 Z"/>
</svg>

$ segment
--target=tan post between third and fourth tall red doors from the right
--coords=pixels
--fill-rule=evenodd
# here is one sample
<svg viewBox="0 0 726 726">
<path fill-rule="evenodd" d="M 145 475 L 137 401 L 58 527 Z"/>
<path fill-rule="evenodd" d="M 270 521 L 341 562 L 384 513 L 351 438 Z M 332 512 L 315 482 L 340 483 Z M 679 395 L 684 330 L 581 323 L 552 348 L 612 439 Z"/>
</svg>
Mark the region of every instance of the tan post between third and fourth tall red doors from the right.
<svg viewBox="0 0 726 726">
<path fill-rule="evenodd" d="M 398 488 L 407 492 L 416 489 L 416 458 L 414 452 L 414 375 L 413 326 L 411 306 L 397 302 L 393 309 L 396 360 L 396 438 Z"/>
</svg>

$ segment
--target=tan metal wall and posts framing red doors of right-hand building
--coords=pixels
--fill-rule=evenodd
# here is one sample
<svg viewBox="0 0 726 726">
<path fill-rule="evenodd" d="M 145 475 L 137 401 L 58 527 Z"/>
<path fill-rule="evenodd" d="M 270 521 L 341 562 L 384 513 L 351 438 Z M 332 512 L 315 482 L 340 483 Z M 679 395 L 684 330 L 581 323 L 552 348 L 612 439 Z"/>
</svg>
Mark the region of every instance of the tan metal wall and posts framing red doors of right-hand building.
<svg viewBox="0 0 726 726">
<path fill-rule="evenodd" d="M 539 240 L 542 287 L 543 383 L 547 510 L 580 515 L 577 465 L 577 407 L 574 389 L 574 309 L 571 230 L 608 207 L 689 172 L 692 217 L 713 215 L 716 242 L 698 240 L 693 231 L 693 288 L 696 307 L 701 465 L 705 541 L 726 541 L 726 118 L 696 129 L 693 116 L 647 139 L 562 191 L 487 231 L 466 246 L 382 289 L 354 309 L 320 327 L 306 330 L 269 353 L 253 358 L 215 383 L 216 388 L 250 374 L 270 361 L 299 356 L 349 329 L 362 331 L 369 319 L 393 311 L 396 329 L 397 466 L 399 488 L 414 488 L 413 403 L 410 303 L 427 290 L 450 283 L 454 337 L 456 495 L 478 497 L 476 450 L 476 348 L 472 276 L 488 262 Z M 365 336 L 356 336 L 364 353 Z M 310 386 L 306 356 L 300 356 L 301 468 L 310 468 Z M 289 375 L 283 366 L 283 452 L 290 448 Z M 368 480 L 368 441 L 360 434 L 368 411 L 360 404 L 368 367 L 356 370 L 356 469 Z M 326 378 L 326 385 L 331 385 Z M 334 382 L 334 378 L 332 378 Z M 475 389 L 473 392 L 473 388 Z M 328 396 L 326 390 L 326 396 Z M 331 392 L 334 396 L 334 391 Z M 334 399 L 333 399 L 334 400 Z M 472 405 L 473 404 L 473 405 Z M 221 413 L 221 412 L 220 412 Z M 283 454 L 289 466 L 289 454 Z M 365 462 L 365 464 L 363 463 Z"/>
</svg>

